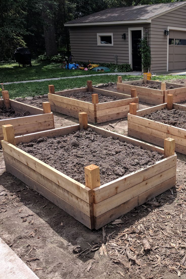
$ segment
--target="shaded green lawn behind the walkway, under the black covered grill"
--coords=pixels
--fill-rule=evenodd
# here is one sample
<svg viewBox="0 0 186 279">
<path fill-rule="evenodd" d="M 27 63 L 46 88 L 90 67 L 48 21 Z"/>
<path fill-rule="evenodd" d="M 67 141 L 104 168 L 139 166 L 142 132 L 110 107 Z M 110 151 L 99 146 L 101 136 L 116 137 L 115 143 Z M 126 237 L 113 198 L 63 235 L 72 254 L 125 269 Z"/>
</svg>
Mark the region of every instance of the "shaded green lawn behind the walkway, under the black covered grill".
<svg viewBox="0 0 186 279">
<path fill-rule="evenodd" d="M 32 67 L 19 67 L 18 63 L 1 64 L 0 83 L 97 74 L 95 71 L 60 69 L 61 63 L 37 62 L 33 60 L 32 65 Z"/>
</svg>

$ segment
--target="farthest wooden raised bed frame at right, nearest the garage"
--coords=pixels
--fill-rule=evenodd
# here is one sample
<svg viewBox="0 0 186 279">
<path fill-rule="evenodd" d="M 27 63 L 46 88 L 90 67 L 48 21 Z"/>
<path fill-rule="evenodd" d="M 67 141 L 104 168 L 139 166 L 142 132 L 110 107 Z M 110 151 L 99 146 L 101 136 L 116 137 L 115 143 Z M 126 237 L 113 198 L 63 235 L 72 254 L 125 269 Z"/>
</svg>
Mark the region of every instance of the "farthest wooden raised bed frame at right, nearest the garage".
<svg viewBox="0 0 186 279">
<path fill-rule="evenodd" d="M 186 100 L 186 86 L 175 83 L 164 83 L 160 81 L 147 80 L 146 74 L 144 74 L 143 80 L 132 80 L 122 82 L 122 78 L 118 77 L 117 91 L 124 94 L 130 94 L 131 89 L 136 89 L 137 97 L 139 97 L 139 102 L 144 102 L 148 104 L 160 105 L 164 104 L 167 100 L 167 95 L 173 95 L 173 101 L 175 103 L 182 102 Z M 142 86 L 132 85 L 132 83 L 147 83 L 147 84 L 157 84 L 161 86 L 161 89 L 147 88 Z M 173 86 L 174 89 L 166 90 L 166 86 Z"/>
</svg>

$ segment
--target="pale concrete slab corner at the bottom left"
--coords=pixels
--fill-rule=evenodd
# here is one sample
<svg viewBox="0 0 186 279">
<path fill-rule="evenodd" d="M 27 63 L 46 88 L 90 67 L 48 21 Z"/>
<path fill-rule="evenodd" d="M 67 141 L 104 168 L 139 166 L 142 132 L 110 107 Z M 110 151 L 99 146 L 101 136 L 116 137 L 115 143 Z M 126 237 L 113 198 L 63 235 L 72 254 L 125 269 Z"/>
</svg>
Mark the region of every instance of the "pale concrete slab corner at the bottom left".
<svg viewBox="0 0 186 279">
<path fill-rule="evenodd" d="M 0 238 L 0 278 L 39 279 L 35 273 Z"/>
</svg>

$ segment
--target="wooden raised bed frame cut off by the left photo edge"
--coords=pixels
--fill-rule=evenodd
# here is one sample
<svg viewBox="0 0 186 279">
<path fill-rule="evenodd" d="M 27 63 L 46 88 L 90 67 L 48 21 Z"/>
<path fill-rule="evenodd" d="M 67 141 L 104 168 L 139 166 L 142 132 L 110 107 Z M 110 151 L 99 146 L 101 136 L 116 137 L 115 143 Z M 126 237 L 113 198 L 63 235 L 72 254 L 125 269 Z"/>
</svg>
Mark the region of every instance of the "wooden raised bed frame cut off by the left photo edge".
<svg viewBox="0 0 186 279">
<path fill-rule="evenodd" d="M 9 99 L 8 91 L 2 91 L 3 100 L 0 100 L 0 107 L 5 105 L 6 109 L 13 109 L 15 112 L 29 112 L 30 116 L 8 118 L 0 120 L 0 140 L 3 139 L 2 125 L 11 124 L 14 126 L 16 136 L 54 129 L 54 117 L 50 110 L 50 103 L 43 102 L 43 109 L 32 107 Z"/>
</svg>

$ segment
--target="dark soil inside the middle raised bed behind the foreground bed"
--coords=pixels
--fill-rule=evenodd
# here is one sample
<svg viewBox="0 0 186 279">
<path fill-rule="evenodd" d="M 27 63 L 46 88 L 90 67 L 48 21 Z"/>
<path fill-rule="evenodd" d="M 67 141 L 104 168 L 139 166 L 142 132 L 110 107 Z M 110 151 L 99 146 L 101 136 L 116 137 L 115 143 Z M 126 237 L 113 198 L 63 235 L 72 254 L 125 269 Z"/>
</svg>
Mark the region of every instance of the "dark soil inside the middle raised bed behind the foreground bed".
<svg viewBox="0 0 186 279">
<path fill-rule="evenodd" d="M 95 92 L 76 92 L 76 93 L 70 93 L 70 94 L 65 94 L 64 97 L 84 101 L 84 102 L 92 102 L 92 94 L 95 94 Z M 98 93 L 98 100 L 99 103 L 105 103 L 105 102 L 111 102 L 111 101 L 116 101 L 120 100 L 117 97 L 110 97 L 110 96 L 104 96 L 100 93 Z"/>
</svg>

